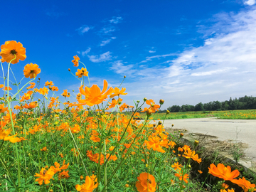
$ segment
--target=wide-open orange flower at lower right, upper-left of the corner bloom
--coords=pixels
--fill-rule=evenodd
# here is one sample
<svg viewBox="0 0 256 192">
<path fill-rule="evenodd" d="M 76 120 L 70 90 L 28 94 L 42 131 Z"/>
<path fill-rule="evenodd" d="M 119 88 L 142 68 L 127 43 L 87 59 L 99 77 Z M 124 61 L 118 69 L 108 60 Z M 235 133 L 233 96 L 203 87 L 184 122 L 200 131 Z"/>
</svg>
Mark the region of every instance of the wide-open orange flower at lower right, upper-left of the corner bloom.
<svg viewBox="0 0 256 192">
<path fill-rule="evenodd" d="M 218 178 L 223 178 L 225 181 L 233 180 L 235 177 L 239 176 L 239 171 L 234 170 L 231 172 L 230 166 L 225 167 L 223 164 L 218 164 L 216 167 L 215 164 L 210 164 L 209 174 L 217 176 Z"/>
</svg>

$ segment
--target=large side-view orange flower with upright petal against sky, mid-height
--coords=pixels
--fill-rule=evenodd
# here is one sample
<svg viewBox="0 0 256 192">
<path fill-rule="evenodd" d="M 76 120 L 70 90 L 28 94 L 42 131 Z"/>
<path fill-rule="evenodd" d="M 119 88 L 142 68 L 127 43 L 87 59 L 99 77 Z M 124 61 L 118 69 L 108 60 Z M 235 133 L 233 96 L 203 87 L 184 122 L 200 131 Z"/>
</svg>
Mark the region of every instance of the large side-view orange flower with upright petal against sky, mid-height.
<svg viewBox="0 0 256 192">
<path fill-rule="evenodd" d="M 85 89 L 83 89 L 83 86 L 81 86 L 79 90 L 82 95 L 85 95 L 85 100 L 78 100 L 78 102 L 85 103 L 89 106 L 100 104 L 101 102 L 105 101 L 107 95 L 111 95 L 113 92 L 112 87 L 107 90 L 107 80 L 104 80 L 102 91 L 100 91 L 100 87 L 97 85 L 92 85 L 90 88 L 85 87 Z"/>
</svg>

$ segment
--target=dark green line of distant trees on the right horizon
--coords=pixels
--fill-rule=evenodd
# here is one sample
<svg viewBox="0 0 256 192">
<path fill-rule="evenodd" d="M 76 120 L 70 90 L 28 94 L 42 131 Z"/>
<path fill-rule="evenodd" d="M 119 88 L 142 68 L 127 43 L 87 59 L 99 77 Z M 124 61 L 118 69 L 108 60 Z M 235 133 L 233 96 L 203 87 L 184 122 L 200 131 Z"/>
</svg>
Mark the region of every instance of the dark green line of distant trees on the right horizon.
<svg viewBox="0 0 256 192">
<path fill-rule="evenodd" d="M 169 112 L 191 112 L 191 111 L 220 111 L 220 110 L 252 110 L 256 109 L 256 97 L 239 97 L 223 102 L 213 101 L 196 105 L 173 105 L 168 107 Z"/>
</svg>

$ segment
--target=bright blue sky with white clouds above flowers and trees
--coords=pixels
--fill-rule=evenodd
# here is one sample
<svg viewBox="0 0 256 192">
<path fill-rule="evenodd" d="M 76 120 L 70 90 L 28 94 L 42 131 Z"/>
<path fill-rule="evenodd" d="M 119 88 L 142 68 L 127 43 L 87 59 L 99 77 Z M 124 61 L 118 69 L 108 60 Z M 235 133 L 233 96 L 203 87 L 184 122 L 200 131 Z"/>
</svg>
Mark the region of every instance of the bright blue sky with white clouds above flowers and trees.
<svg viewBox="0 0 256 192">
<path fill-rule="evenodd" d="M 255 0 L 14 0 L 1 7 L 0 43 L 26 48 L 26 60 L 11 66 L 16 79 L 36 63 L 41 87 L 52 80 L 58 95 L 78 93 L 68 68 L 82 65 L 73 67 L 73 55 L 91 84 L 115 87 L 126 75 L 128 105 L 146 97 L 164 99 L 166 109 L 256 95 Z"/>
</svg>

